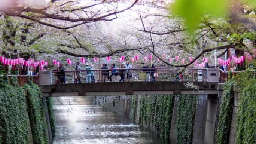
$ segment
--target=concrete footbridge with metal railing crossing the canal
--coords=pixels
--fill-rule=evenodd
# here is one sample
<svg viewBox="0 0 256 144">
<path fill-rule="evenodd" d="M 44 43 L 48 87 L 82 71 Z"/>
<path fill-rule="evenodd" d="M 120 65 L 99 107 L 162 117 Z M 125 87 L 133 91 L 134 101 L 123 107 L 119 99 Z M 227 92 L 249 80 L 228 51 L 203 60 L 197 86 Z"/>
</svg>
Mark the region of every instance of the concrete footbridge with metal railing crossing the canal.
<svg viewBox="0 0 256 144">
<path fill-rule="evenodd" d="M 105 69 L 111 74 L 112 69 Z M 219 69 L 188 68 L 179 75 L 179 68 L 129 68 L 116 69 L 125 71 L 125 82 L 120 74 L 113 76 L 112 81 L 103 79 L 103 70 L 73 70 L 41 71 L 39 85 L 43 97 L 57 96 L 101 96 L 101 95 L 162 95 L 162 94 L 217 94 L 219 83 Z M 146 70 L 146 71 L 145 71 Z M 204 70 L 208 71 L 204 78 Z M 90 71 L 90 73 L 88 73 Z M 126 73 L 132 73 L 127 79 Z M 94 80 L 85 79 L 92 75 Z M 153 73 L 155 77 L 153 77 Z M 76 82 L 77 74 L 81 76 L 81 83 Z M 146 75 L 151 75 L 147 77 Z M 65 76 L 65 82 L 60 82 L 60 76 Z M 178 80 L 178 81 L 177 81 Z"/>
</svg>

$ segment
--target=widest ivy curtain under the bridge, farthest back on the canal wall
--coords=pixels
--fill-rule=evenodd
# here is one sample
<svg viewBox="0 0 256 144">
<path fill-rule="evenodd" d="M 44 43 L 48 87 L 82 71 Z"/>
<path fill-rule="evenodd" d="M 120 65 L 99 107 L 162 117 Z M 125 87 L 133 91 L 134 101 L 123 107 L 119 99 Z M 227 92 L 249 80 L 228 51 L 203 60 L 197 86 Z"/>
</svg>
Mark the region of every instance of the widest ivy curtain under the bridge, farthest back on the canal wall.
<svg viewBox="0 0 256 144">
<path fill-rule="evenodd" d="M 136 98 L 132 98 L 132 101 L 136 101 Z M 139 124 L 144 126 L 152 125 L 157 133 L 168 137 L 173 114 L 173 95 L 139 96 L 139 101 Z M 134 103 L 132 102 L 132 105 Z M 132 109 L 134 109 L 132 110 L 132 115 L 135 116 L 135 104 Z"/>
</svg>

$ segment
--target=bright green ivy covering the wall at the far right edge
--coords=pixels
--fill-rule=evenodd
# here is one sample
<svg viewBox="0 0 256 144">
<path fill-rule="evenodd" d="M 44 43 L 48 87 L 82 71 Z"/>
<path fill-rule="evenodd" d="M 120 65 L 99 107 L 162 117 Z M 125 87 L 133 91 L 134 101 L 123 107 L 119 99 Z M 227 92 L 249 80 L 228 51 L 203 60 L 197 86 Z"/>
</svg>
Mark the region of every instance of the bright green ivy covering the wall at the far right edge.
<svg viewBox="0 0 256 144">
<path fill-rule="evenodd" d="M 256 73 L 247 70 L 235 77 L 239 87 L 236 144 L 256 143 Z"/>
</svg>

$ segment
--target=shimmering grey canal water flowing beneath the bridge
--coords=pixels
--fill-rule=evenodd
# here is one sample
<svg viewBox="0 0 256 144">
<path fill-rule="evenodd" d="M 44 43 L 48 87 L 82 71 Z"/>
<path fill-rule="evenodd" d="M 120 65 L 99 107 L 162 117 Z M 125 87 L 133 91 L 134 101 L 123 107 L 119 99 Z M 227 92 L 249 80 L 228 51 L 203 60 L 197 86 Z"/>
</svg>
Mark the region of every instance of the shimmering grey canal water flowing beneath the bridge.
<svg viewBox="0 0 256 144">
<path fill-rule="evenodd" d="M 56 137 L 54 144 L 169 144 L 149 129 L 89 98 L 54 99 Z"/>
</svg>

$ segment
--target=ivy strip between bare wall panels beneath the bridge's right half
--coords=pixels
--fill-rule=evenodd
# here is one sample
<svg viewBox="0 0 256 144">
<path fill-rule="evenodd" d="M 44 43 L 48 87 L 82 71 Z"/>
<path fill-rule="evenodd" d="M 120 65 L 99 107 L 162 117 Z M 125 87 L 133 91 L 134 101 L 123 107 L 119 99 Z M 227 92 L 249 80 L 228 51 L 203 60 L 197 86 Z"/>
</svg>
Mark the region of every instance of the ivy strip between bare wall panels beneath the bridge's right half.
<svg viewBox="0 0 256 144">
<path fill-rule="evenodd" d="M 177 143 L 192 143 L 197 95 L 180 95 L 177 118 Z"/>
</svg>

